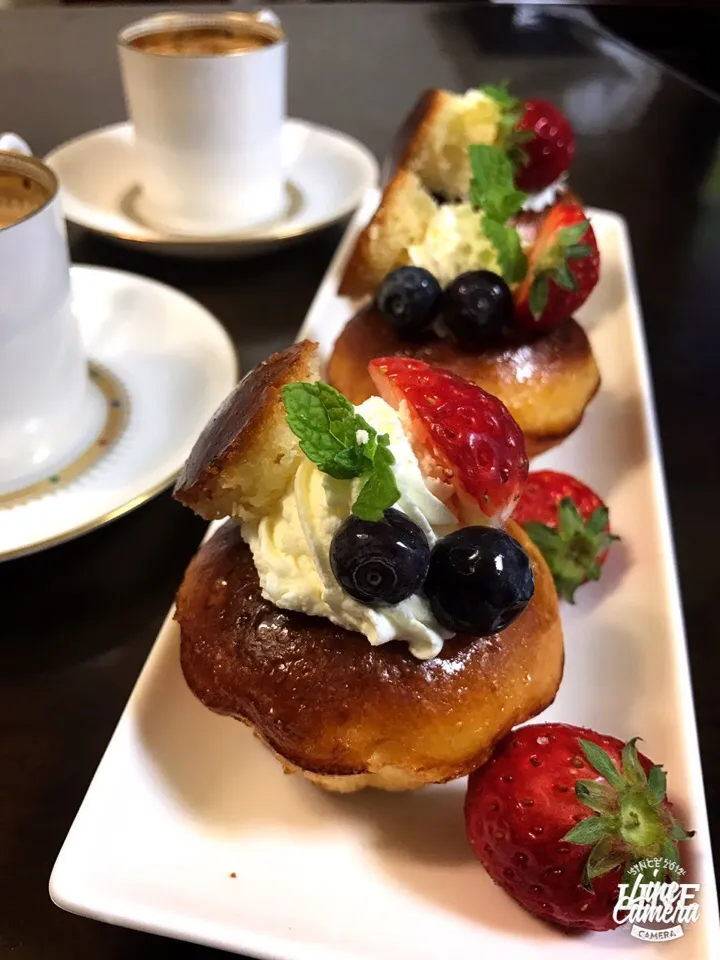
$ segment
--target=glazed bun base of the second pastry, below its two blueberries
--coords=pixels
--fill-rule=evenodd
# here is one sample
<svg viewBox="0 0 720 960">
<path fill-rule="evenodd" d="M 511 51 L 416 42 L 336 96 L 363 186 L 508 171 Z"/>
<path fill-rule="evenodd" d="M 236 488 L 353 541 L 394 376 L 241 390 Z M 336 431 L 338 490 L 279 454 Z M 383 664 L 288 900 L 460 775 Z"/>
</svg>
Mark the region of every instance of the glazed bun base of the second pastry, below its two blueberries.
<svg viewBox="0 0 720 960">
<path fill-rule="evenodd" d="M 328 382 L 354 404 L 377 391 L 368 373 L 375 357 L 410 356 L 445 367 L 498 397 L 525 435 L 529 457 L 575 430 L 600 387 L 587 334 L 575 320 L 534 339 L 512 334 L 467 352 L 434 335 L 402 339 L 373 305 L 346 324 L 328 364 Z"/>
</svg>

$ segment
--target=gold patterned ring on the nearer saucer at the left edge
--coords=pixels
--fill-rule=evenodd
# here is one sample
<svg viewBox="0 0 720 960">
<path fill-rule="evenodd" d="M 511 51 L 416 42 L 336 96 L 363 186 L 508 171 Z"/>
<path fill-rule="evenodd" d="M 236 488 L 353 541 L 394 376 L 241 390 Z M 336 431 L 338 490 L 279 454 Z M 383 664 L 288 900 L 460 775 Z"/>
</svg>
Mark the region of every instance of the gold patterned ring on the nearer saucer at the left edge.
<svg viewBox="0 0 720 960">
<path fill-rule="evenodd" d="M 18 507 L 38 497 L 62 490 L 90 469 L 108 450 L 117 443 L 128 421 L 130 400 L 120 381 L 104 367 L 90 364 L 91 381 L 100 390 L 105 400 L 105 422 L 97 439 L 90 444 L 72 463 L 38 480 L 37 483 L 12 493 L 0 494 L 0 511 Z M 3 554 L 0 554 L 3 556 Z"/>
</svg>

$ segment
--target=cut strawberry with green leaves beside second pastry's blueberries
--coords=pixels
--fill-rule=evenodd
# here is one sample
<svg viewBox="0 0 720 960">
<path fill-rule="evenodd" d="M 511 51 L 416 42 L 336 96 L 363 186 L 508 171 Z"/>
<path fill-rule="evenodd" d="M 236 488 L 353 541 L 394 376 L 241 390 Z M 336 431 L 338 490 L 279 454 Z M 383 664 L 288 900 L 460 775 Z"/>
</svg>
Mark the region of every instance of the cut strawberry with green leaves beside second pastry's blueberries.
<svg viewBox="0 0 720 960">
<path fill-rule="evenodd" d="M 597 240 L 582 207 L 556 203 L 530 251 L 515 316 L 531 332 L 559 327 L 585 303 L 599 276 Z"/>
</svg>

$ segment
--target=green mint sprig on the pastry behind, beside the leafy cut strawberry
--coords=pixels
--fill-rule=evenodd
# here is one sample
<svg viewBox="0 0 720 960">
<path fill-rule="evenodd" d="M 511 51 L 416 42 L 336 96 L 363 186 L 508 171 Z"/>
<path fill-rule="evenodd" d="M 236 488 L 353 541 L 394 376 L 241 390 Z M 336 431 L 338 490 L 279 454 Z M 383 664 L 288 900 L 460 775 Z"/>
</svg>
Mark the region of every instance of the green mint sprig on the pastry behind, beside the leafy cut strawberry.
<svg viewBox="0 0 720 960">
<path fill-rule="evenodd" d="M 516 188 L 512 161 L 500 147 L 473 144 L 468 155 L 470 202 L 482 211 L 483 231 L 495 247 L 503 279 L 520 283 L 527 273 L 527 257 L 519 233 L 507 221 L 522 210 L 527 194 Z"/>
</svg>

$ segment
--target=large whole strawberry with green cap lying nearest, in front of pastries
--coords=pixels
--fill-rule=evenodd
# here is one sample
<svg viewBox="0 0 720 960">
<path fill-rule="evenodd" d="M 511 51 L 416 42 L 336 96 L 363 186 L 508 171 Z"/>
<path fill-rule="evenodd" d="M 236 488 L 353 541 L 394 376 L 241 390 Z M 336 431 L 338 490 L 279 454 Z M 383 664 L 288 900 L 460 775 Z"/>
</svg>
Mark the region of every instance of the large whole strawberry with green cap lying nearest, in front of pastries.
<svg viewBox="0 0 720 960">
<path fill-rule="evenodd" d="M 634 884 L 633 865 L 680 862 L 675 841 L 692 834 L 665 798 L 665 772 L 638 753 L 637 739 L 623 745 L 569 724 L 530 724 L 470 775 L 470 845 L 495 883 L 535 916 L 610 930 L 618 884 Z"/>
</svg>

